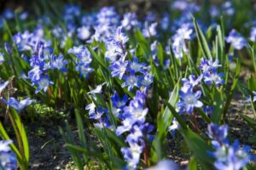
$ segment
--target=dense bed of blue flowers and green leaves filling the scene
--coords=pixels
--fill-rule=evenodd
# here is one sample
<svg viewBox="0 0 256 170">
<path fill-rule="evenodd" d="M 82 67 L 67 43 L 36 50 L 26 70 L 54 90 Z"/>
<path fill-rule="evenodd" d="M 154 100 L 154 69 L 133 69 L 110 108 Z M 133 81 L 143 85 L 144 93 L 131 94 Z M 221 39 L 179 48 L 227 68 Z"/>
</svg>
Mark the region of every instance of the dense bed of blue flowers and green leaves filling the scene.
<svg viewBox="0 0 256 170">
<path fill-rule="evenodd" d="M 255 168 L 251 148 L 229 136 L 227 117 L 234 94 L 242 94 L 250 106 L 240 115 L 256 129 L 247 116 L 256 115 L 251 4 L 182 0 L 143 17 L 71 4 L 38 17 L 5 9 L 0 169 L 29 168 L 20 114 L 36 104 L 74 112 L 79 141 L 68 123 L 60 133 L 79 169 L 179 169 L 166 150 L 175 138 L 188 147 L 189 169 Z M 241 69 L 248 68 L 244 82 Z"/>
</svg>

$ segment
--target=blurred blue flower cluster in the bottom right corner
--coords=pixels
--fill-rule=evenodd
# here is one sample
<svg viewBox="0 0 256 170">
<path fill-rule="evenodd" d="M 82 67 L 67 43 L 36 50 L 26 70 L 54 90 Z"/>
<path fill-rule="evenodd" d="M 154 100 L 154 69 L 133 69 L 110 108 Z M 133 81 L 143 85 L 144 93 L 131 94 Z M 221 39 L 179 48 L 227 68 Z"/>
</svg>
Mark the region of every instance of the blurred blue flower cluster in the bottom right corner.
<svg viewBox="0 0 256 170">
<path fill-rule="evenodd" d="M 239 170 L 245 167 L 249 161 L 253 160 L 250 155 L 249 146 L 239 147 L 239 142 L 236 140 L 230 144 L 227 139 L 228 126 L 218 126 L 216 124 L 208 125 L 208 136 L 212 139 L 214 151 L 208 151 L 208 154 L 216 159 L 214 167 L 218 170 L 234 169 Z"/>
</svg>

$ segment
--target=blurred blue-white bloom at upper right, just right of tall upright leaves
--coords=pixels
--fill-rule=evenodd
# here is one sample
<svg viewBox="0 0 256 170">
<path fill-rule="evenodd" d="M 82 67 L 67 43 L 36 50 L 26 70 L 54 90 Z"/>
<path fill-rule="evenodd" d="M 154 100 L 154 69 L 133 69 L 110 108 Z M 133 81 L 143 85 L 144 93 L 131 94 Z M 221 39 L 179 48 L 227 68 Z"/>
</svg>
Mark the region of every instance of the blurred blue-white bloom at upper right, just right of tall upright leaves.
<svg viewBox="0 0 256 170">
<path fill-rule="evenodd" d="M 234 29 L 230 31 L 229 36 L 225 39 L 226 42 L 231 43 L 232 46 L 238 50 L 247 46 L 246 39 L 244 37 L 241 37 L 241 35 Z"/>
</svg>

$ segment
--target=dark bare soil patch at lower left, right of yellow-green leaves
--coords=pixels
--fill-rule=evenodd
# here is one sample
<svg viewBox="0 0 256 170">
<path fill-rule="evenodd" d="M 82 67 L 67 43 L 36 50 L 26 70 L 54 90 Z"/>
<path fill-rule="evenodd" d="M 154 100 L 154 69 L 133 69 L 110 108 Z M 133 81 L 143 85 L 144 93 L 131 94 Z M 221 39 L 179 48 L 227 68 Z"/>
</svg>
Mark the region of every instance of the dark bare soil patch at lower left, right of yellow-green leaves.
<svg viewBox="0 0 256 170">
<path fill-rule="evenodd" d="M 72 161 L 68 150 L 64 148 L 64 139 L 59 127 L 64 127 L 64 123 L 49 119 L 29 125 L 32 170 L 65 169 L 67 163 Z M 38 134 L 40 129 L 44 129 L 43 134 Z M 76 131 L 73 130 L 73 133 Z"/>
</svg>

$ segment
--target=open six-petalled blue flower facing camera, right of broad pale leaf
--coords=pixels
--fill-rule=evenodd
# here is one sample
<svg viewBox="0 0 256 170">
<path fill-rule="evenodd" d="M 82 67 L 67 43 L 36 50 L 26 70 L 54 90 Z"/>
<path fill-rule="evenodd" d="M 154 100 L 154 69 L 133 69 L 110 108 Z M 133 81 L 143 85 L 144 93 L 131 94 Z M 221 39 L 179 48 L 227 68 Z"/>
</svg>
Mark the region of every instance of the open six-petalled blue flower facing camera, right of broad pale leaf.
<svg viewBox="0 0 256 170">
<path fill-rule="evenodd" d="M 202 107 L 202 102 L 198 100 L 201 97 L 201 91 L 198 90 L 193 93 L 191 86 L 185 86 L 179 91 L 180 101 L 177 103 L 177 108 L 182 112 L 186 111 L 188 114 L 192 113 L 194 107 Z"/>
</svg>

